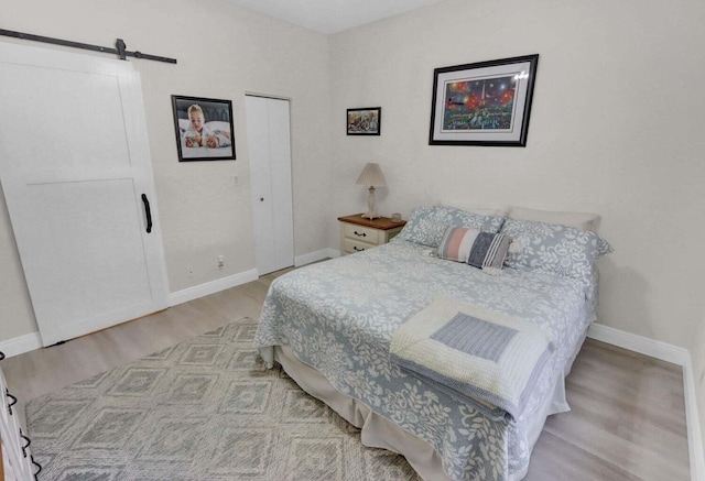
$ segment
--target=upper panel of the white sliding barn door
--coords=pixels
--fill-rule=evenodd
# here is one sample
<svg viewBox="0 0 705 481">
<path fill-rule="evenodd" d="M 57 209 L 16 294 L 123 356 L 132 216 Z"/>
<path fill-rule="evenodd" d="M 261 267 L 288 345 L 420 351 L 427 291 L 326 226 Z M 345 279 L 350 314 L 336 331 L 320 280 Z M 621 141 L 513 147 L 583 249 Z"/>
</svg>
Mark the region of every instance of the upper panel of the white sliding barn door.
<svg viewBox="0 0 705 481">
<path fill-rule="evenodd" d="M 3 120 L 0 145 L 25 164 L 12 170 L 84 170 L 128 166 L 120 78 L 37 65 L 0 69 Z"/>
</svg>

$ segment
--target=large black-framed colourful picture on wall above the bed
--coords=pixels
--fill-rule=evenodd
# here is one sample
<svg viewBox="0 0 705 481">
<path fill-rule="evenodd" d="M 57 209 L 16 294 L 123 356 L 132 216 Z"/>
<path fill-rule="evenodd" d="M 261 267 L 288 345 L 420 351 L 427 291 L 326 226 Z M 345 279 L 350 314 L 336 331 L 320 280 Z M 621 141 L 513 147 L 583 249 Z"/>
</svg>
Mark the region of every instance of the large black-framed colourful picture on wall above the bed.
<svg viewBox="0 0 705 481">
<path fill-rule="evenodd" d="M 433 70 L 430 145 L 527 146 L 539 54 Z"/>
</svg>

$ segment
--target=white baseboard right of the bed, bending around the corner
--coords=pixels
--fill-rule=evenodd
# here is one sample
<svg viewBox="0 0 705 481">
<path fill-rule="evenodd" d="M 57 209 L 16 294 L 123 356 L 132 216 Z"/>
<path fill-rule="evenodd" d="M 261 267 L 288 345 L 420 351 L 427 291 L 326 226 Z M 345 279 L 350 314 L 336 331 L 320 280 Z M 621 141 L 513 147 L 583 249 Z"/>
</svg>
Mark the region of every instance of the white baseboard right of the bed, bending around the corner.
<svg viewBox="0 0 705 481">
<path fill-rule="evenodd" d="M 590 326 L 587 331 L 587 337 L 683 368 L 685 425 L 687 426 L 691 479 L 693 481 L 705 480 L 705 452 L 703 451 L 699 414 L 697 412 L 697 400 L 695 395 L 695 379 L 693 376 L 693 362 L 690 351 L 684 348 L 625 332 L 623 330 L 596 323 L 593 323 Z"/>
</svg>

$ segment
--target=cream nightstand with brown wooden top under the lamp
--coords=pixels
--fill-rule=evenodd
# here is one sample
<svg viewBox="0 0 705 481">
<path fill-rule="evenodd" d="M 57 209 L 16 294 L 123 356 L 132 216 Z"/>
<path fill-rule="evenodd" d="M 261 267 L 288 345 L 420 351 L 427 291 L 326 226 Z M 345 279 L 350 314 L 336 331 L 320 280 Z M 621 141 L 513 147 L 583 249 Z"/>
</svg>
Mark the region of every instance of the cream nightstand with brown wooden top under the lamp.
<svg viewBox="0 0 705 481">
<path fill-rule="evenodd" d="M 361 214 L 338 217 L 338 220 L 340 221 L 340 255 L 386 244 L 406 223 L 405 220 L 394 222 L 389 217 L 365 219 Z"/>
</svg>

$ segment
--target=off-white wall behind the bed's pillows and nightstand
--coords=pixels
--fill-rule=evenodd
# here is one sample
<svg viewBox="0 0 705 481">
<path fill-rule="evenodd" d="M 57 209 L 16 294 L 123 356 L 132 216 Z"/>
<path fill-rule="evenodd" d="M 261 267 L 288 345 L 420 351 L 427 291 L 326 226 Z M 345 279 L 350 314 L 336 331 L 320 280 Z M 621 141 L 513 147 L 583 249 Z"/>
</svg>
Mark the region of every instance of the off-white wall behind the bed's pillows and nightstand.
<svg viewBox="0 0 705 481">
<path fill-rule="evenodd" d="M 332 36 L 336 214 L 365 210 L 366 162 L 387 177 L 383 215 L 448 199 L 601 214 L 616 252 L 599 323 L 690 349 L 705 419 L 704 21 L 693 0 L 447 0 Z M 427 144 L 434 68 L 534 53 L 527 147 Z M 345 109 L 369 106 L 381 135 L 346 136 Z"/>
</svg>

